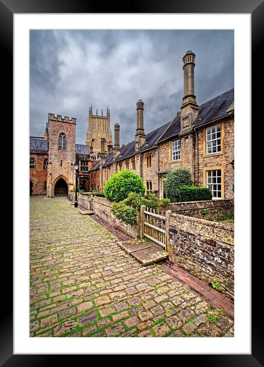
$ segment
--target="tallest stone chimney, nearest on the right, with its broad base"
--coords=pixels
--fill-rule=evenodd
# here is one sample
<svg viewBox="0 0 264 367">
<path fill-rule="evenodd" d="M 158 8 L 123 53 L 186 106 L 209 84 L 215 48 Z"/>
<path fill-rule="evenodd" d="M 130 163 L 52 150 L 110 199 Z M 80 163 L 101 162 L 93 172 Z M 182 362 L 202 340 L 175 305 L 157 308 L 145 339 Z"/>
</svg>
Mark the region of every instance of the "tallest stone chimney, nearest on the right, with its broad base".
<svg viewBox="0 0 264 367">
<path fill-rule="evenodd" d="M 180 107 L 180 134 L 188 133 L 192 130 L 193 123 L 198 116 L 199 108 L 194 95 L 194 64 L 195 53 L 187 51 L 182 62 L 184 66 L 184 97 Z"/>
</svg>

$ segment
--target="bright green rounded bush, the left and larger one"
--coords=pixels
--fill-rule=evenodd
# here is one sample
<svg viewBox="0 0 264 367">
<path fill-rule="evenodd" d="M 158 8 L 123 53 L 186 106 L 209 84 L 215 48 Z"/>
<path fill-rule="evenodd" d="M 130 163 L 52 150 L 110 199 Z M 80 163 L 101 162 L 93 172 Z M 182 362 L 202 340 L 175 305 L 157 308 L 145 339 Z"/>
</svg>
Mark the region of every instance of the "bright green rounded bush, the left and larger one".
<svg viewBox="0 0 264 367">
<path fill-rule="evenodd" d="M 111 201 L 124 200 L 130 192 L 141 195 L 145 194 L 142 178 L 138 174 L 130 171 L 114 173 L 104 187 L 105 197 Z"/>
</svg>

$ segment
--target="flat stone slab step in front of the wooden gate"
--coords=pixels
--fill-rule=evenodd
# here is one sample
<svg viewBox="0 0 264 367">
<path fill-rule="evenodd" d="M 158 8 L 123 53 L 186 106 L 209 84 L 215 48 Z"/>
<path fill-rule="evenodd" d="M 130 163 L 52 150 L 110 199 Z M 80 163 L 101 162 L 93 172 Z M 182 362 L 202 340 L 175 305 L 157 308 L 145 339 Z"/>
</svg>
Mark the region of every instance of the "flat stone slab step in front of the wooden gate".
<svg viewBox="0 0 264 367">
<path fill-rule="evenodd" d="M 119 243 L 119 246 L 143 265 L 165 260 L 169 256 L 167 251 L 143 240 L 132 239 Z"/>
</svg>

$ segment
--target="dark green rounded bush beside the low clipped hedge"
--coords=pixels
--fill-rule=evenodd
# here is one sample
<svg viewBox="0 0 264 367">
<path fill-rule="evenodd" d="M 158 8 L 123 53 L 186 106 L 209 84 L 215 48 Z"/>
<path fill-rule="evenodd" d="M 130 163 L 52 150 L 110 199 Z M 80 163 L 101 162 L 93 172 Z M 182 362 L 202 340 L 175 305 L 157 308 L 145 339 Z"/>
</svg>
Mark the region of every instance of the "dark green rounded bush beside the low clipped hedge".
<svg viewBox="0 0 264 367">
<path fill-rule="evenodd" d="M 186 168 L 178 168 L 168 173 L 164 180 L 164 191 L 171 202 L 179 200 L 179 188 L 181 186 L 192 186 L 192 177 Z"/>
</svg>

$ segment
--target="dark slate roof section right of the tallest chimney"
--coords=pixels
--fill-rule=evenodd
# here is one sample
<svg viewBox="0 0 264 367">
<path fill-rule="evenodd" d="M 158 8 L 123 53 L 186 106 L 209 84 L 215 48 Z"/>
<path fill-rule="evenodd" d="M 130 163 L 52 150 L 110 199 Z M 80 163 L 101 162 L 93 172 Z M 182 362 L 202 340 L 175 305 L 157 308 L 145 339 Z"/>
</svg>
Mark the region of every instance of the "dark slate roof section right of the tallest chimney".
<svg viewBox="0 0 264 367">
<path fill-rule="evenodd" d="M 230 105 L 234 102 L 234 88 L 208 100 L 199 106 L 199 120 L 195 127 L 209 123 L 216 118 L 225 116 Z"/>
</svg>

